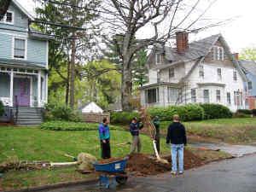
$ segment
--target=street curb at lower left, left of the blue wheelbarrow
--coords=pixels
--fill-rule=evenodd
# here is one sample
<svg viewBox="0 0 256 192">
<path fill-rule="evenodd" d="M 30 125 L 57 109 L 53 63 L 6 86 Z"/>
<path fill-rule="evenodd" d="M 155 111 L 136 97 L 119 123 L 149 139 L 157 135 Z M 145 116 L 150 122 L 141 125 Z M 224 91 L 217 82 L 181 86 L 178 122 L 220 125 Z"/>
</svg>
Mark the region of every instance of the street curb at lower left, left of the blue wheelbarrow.
<svg viewBox="0 0 256 192">
<path fill-rule="evenodd" d="M 97 179 L 91 179 L 91 180 L 86 180 L 86 181 L 49 184 L 49 185 L 44 185 L 44 186 L 39 186 L 39 187 L 34 187 L 34 188 L 8 190 L 8 191 L 3 191 L 3 192 L 36 192 L 36 191 L 42 191 L 42 190 L 71 187 L 71 186 L 79 185 L 79 184 L 95 184 L 96 182 L 97 182 Z"/>
</svg>

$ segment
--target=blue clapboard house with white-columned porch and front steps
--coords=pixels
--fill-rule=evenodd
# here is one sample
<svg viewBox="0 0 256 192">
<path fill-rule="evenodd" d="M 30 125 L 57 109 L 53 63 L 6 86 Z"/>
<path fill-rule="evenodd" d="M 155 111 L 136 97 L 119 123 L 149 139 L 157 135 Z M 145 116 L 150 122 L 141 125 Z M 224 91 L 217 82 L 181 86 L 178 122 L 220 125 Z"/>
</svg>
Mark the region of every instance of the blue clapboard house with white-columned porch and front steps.
<svg viewBox="0 0 256 192">
<path fill-rule="evenodd" d="M 25 125 L 42 121 L 48 92 L 49 37 L 33 30 L 29 20 L 32 15 L 16 0 L 0 16 L 0 101 L 5 118 Z"/>
</svg>

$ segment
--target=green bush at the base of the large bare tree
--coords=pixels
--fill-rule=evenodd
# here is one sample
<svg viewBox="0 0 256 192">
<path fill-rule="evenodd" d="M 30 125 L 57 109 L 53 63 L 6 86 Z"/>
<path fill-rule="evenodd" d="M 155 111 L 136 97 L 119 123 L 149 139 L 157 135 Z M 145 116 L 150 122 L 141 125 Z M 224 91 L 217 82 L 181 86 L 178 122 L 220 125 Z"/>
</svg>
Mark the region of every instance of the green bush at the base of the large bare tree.
<svg viewBox="0 0 256 192">
<path fill-rule="evenodd" d="M 139 118 L 139 114 L 137 112 L 112 112 L 112 113 L 110 113 L 110 121 L 113 124 L 129 125 L 131 123 L 131 119 L 134 117 Z"/>
</svg>

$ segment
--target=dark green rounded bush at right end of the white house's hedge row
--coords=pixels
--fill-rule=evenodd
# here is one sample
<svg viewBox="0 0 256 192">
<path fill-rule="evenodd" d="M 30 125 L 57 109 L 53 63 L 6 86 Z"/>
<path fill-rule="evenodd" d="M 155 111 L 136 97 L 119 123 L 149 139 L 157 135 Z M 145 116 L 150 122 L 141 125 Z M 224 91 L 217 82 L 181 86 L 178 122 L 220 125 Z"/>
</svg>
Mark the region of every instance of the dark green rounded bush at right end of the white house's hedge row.
<svg viewBox="0 0 256 192">
<path fill-rule="evenodd" d="M 232 113 L 229 108 L 219 104 L 201 104 L 205 111 L 205 119 L 220 119 L 232 118 Z"/>
</svg>

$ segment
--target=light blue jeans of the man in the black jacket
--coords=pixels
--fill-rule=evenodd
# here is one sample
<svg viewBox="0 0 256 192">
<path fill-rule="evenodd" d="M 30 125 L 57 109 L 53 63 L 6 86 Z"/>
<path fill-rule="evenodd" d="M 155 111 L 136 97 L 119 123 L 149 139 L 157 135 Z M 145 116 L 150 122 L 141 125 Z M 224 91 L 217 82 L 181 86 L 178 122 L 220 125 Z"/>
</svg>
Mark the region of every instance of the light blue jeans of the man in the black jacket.
<svg viewBox="0 0 256 192">
<path fill-rule="evenodd" d="M 178 160 L 178 171 L 183 172 L 183 144 L 172 144 L 172 172 L 177 172 L 177 160 Z M 178 156 L 178 157 L 177 157 Z"/>
</svg>

